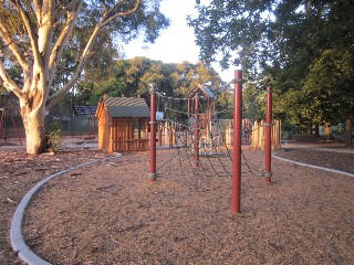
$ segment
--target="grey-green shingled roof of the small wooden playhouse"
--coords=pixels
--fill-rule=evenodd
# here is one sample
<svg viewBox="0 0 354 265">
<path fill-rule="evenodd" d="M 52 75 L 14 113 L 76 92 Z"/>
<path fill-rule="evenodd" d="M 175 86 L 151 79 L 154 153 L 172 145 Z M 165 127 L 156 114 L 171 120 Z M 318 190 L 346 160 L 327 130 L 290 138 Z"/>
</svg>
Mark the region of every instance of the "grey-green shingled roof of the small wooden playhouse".
<svg viewBox="0 0 354 265">
<path fill-rule="evenodd" d="M 105 97 L 111 118 L 148 118 L 150 110 L 144 98 L 139 97 Z"/>
</svg>

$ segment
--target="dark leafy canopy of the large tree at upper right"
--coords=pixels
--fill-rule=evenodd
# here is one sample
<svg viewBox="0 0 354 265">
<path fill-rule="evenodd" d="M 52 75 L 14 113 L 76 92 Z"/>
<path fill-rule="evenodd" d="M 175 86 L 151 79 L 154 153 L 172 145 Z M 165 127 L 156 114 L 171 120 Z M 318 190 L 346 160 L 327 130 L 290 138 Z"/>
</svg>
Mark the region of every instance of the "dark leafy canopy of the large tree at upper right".
<svg viewBox="0 0 354 265">
<path fill-rule="evenodd" d="M 198 11 L 189 24 L 201 60 L 221 54 L 221 66 L 241 65 L 248 81 L 271 85 L 277 116 L 353 117 L 353 1 L 212 0 Z"/>
</svg>

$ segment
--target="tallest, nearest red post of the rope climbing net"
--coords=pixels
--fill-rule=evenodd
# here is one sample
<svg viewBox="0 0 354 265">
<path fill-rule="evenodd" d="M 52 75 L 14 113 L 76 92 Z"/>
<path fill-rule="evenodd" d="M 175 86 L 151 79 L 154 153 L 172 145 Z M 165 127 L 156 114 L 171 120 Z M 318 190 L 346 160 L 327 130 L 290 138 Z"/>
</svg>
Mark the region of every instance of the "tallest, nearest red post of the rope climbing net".
<svg viewBox="0 0 354 265">
<path fill-rule="evenodd" d="M 232 152 L 232 212 L 241 208 L 241 136 L 242 136 L 242 71 L 235 71 L 233 92 L 233 152 Z"/>
</svg>

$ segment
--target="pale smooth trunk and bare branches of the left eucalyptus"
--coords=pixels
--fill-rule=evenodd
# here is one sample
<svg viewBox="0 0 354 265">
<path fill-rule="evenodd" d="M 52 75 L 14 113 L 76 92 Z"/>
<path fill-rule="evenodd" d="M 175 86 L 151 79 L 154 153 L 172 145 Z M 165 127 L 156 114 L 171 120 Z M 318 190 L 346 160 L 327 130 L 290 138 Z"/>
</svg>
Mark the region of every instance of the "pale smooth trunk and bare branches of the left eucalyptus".
<svg viewBox="0 0 354 265">
<path fill-rule="evenodd" d="M 9 2 L 11 8 L 18 12 L 15 18 L 21 19 L 21 23 L 14 23 L 14 26 L 10 23 L 11 26 L 8 26 L 7 19 L 0 19 L 0 43 L 3 44 L 1 49 L 8 49 L 11 56 L 22 67 L 23 87 L 21 88 L 7 73 L 4 63 L 7 61 L 2 60 L 1 51 L 0 80 L 3 83 L 1 85 L 19 97 L 27 138 L 27 152 L 38 155 L 45 150 L 45 107 L 53 106 L 75 85 L 92 55 L 92 46 L 100 31 L 116 18 L 137 11 L 140 7 L 140 0 L 134 1 L 134 6 L 125 11 L 118 11 L 124 1 L 103 4 L 102 17 L 86 42 L 72 80 L 50 99 L 49 95 L 56 67 L 72 35 L 84 1 L 64 1 L 66 6 L 59 3 L 61 1 L 52 0 L 34 1 L 29 6 L 28 1 L 24 3 L 21 1 Z M 62 26 L 59 26 L 59 21 Z M 18 25 L 21 25 L 21 29 L 23 28 L 25 31 L 22 36 L 25 44 L 15 41 L 17 38 L 12 36 L 12 31 Z M 25 46 L 27 50 L 24 51 L 21 46 Z"/>
</svg>

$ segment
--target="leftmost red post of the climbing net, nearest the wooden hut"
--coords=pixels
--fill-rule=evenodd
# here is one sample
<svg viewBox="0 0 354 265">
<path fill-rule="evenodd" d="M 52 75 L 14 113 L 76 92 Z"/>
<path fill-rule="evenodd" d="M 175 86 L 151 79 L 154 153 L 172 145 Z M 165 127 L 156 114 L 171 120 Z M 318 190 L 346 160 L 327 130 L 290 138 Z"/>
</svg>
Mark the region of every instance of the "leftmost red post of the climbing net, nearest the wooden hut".
<svg viewBox="0 0 354 265">
<path fill-rule="evenodd" d="M 150 85 L 150 171 L 148 180 L 154 182 L 156 180 L 156 86 Z"/>
</svg>

